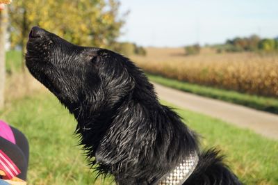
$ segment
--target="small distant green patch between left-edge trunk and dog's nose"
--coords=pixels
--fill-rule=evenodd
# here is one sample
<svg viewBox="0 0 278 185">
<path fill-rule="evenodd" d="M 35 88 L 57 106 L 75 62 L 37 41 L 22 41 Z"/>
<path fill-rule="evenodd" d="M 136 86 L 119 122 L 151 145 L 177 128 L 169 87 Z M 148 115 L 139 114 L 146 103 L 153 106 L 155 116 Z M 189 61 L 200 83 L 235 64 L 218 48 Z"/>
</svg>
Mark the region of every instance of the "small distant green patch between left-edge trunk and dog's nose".
<svg viewBox="0 0 278 185">
<path fill-rule="evenodd" d="M 6 72 L 11 74 L 22 69 L 22 52 L 17 50 L 6 52 Z"/>
</svg>

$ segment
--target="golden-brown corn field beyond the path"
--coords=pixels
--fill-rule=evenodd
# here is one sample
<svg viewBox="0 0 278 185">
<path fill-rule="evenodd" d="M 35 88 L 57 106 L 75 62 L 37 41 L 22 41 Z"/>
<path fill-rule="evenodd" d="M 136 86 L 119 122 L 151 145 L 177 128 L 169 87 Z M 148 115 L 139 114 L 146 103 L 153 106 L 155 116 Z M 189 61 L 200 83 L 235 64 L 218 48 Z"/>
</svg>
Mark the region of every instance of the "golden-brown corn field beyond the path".
<svg viewBox="0 0 278 185">
<path fill-rule="evenodd" d="M 241 93 L 278 97 L 278 55 L 215 54 L 203 49 L 183 56 L 183 49 L 147 49 L 146 57 L 133 56 L 143 70 L 163 77 Z"/>
</svg>

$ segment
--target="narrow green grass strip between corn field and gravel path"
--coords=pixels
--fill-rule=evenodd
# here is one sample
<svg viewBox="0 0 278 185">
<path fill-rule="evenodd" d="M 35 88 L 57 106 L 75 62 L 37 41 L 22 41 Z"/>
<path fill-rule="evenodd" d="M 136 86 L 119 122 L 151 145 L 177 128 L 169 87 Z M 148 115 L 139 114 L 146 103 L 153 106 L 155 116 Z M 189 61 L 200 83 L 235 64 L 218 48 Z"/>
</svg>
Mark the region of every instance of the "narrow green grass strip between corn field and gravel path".
<svg viewBox="0 0 278 185">
<path fill-rule="evenodd" d="M 186 83 L 183 81 L 177 81 L 174 79 L 167 79 L 165 77 L 156 76 L 152 74 L 147 75 L 151 81 L 160 83 L 163 86 L 170 88 L 176 88 L 188 93 L 194 93 L 202 95 L 204 97 L 211 97 L 214 99 L 221 99 L 226 102 L 234 104 L 240 104 L 243 106 L 249 106 L 261 111 L 268 111 L 270 113 L 278 113 L 278 99 L 271 97 L 259 97 L 256 95 L 247 95 L 244 93 L 238 93 L 231 90 L 223 90 L 218 88 L 211 88 L 207 86 L 200 86 L 192 83 Z"/>
</svg>

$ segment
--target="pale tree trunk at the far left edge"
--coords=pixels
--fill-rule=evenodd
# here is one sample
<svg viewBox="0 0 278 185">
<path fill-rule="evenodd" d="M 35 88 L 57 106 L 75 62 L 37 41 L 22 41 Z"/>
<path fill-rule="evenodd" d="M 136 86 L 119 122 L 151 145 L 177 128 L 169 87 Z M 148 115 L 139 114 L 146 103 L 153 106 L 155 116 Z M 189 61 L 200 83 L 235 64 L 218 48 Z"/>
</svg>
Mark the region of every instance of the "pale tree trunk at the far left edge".
<svg viewBox="0 0 278 185">
<path fill-rule="evenodd" d="M 4 105 L 4 91 L 5 91 L 5 41 L 6 41 L 6 30 L 8 26 L 8 13 L 7 8 L 0 11 L 0 109 Z"/>
</svg>

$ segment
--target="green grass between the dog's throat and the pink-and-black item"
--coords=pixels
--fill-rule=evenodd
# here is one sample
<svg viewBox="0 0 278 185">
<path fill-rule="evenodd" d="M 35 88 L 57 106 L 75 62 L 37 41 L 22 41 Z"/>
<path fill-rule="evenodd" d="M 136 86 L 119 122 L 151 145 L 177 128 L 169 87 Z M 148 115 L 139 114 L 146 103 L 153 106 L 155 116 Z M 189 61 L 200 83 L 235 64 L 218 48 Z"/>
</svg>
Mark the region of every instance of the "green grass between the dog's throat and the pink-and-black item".
<svg viewBox="0 0 278 185">
<path fill-rule="evenodd" d="M 94 184 L 96 174 L 76 146 L 76 122 L 56 97 L 42 94 L 19 99 L 8 104 L 0 118 L 28 138 L 28 184 Z M 100 182 L 99 179 L 95 184 Z"/>
</svg>

